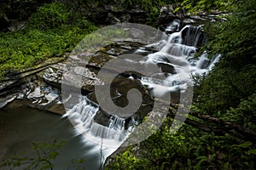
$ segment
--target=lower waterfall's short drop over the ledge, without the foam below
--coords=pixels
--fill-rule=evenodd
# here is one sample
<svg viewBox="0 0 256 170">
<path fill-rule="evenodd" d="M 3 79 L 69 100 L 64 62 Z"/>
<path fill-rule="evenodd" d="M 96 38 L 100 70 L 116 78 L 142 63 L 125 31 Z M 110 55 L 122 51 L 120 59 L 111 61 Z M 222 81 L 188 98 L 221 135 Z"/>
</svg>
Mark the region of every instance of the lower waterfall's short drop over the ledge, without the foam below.
<svg viewBox="0 0 256 170">
<path fill-rule="evenodd" d="M 94 118 L 99 111 L 99 105 L 87 97 L 82 97 L 79 104 L 67 111 L 68 116 L 79 134 L 91 142 L 99 142 L 104 139 L 105 146 L 119 145 L 127 136 L 125 130 L 125 119 L 111 116 L 108 127 L 95 122 Z"/>
</svg>

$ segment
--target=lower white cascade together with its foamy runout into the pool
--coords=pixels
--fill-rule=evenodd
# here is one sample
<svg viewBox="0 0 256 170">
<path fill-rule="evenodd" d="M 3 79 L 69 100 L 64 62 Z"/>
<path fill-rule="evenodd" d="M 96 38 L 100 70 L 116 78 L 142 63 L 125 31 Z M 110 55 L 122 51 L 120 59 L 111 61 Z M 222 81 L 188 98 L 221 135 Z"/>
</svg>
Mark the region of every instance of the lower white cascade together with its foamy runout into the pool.
<svg viewBox="0 0 256 170">
<path fill-rule="evenodd" d="M 90 145 L 92 148 L 89 150 L 90 154 L 101 157 L 97 161 L 98 165 L 90 167 L 90 169 L 102 168 L 106 158 L 119 148 L 131 130 L 125 130 L 125 119 L 117 116 L 110 117 L 108 127 L 95 122 L 97 111 L 99 111 L 98 105 L 87 97 L 82 97 L 80 102 L 64 115 L 68 116 L 73 123 L 77 135 L 83 134 L 84 145 Z"/>
</svg>

